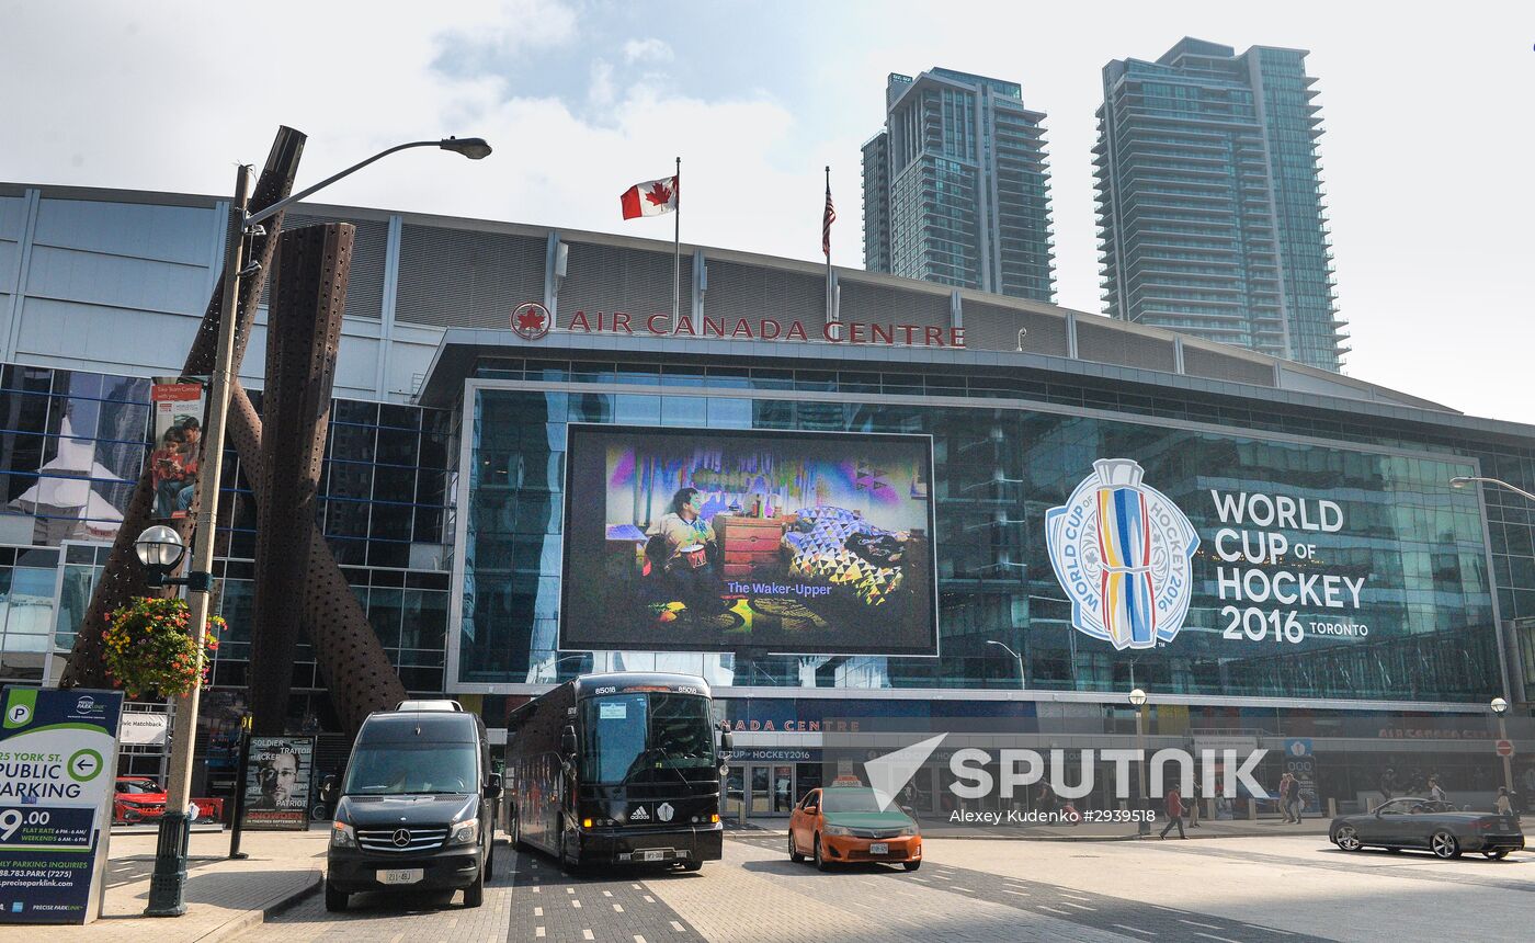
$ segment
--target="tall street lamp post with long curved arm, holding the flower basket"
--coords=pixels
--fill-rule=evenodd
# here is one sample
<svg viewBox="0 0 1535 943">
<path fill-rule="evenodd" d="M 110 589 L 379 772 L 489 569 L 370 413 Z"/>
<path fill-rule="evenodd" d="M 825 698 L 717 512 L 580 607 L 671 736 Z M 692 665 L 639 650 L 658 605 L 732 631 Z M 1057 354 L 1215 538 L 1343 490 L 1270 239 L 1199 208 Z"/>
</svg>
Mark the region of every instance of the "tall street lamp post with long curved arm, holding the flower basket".
<svg viewBox="0 0 1535 943">
<path fill-rule="evenodd" d="M 212 590 L 210 573 L 213 570 L 213 527 L 216 524 L 220 478 L 224 472 L 224 422 L 229 418 L 230 372 L 235 359 L 235 323 L 238 321 L 235 304 L 239 298 L 239 278 L 244 275 L 246 237 L 253 235 L 256 227 L 270 220 L 290 204 L 324 189 L 342 177 L 355 174 L 373 161 L 388 157 L 407 147 L 441 147 L 462 154 L 470 160 L 480 160 L 490 155 L 490 144 L 484 138 L 442 138 L 437 141 L 410 141 L 381 151 L 373 157 L 352 164 L 345 170 L 327 177 L 318 184 L 279 200 L 261 212 L 247 212 L 250 201 L 250 167 L 241 164 L 235 174 L 235 200 L 229 206 L 229 229 L 224 241 L 224 276 L 221 286 L 218 350 L 213 361 L 213 378 L 209 390 L 209 416 L 203 438 L 203 455 L 206 461 L 198 482 L 198 515 L 196 539 L 192 544 L 192 562 L 189 564 L 187 590 L 190 590 L 190 622 L 196 640 L 195 651 L 203 651 L 203 637 L 207 628 L 209 591 Z M 144 533 L 149 536 L 150 528 Z M 152 544 L 150 541 L 144 542 Z M 135 547 L 137 550 L 137 547 Z M 147 550 L 140 550 L 143 559 Z M 186 914 L 186 878 L 187 878 L 187 840 L 189 816 L 187 805 L 192 802 L 192 746 L 196 740 L 196 711 L 201 685 L 192 688 L 190 694 L 177 699 L 172 713 L 170 734 L 170 776 L 166 785 L 166 814 L 160 820 L 160 837 L 155 846 L 155 871 L 149 882 L 147 917 L 180 917 Z M 244 783 L 236 783 L 243 788 Z"/>
</svg>

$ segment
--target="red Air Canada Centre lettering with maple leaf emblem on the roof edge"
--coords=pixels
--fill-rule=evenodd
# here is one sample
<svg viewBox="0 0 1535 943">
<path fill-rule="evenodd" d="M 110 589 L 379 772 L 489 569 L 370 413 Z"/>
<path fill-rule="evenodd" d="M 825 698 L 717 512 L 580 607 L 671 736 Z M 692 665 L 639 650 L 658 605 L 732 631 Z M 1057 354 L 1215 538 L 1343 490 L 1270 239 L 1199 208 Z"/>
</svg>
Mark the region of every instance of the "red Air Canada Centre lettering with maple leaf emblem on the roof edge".
<svg viewBox="0 0 1535 943">
<path fill-rule="evenodd" d="M 543 306 L 525 304 L 514 313 L 527 319 L 525 309 L 545 312 Z M 546 318 L 548 315 L 543 313 Z M 938 327 L 933 324 L 896 324 L 893 321 L 834 321 L 827 324 L 809 323 L 794 318 L 712 318 L 705 315 L 694 319 L 691 315 L 680 315 L 675 323 L 666 312 L 654 315 L 632 315 L 629 312 L 586 312 L 579 310 L 571 315 L 571 321 L 563 327 L 566 333 L 608 333 L 628 336 L 657 338 L 711 338 L 721 341 L 823 341 L 827 344 L 860 344 L 876 347 L 959 347 L 966 346 L 964 327 Z M 525 339 L 542 339 L 528 333 L 519 333 Z"/>
</svg>

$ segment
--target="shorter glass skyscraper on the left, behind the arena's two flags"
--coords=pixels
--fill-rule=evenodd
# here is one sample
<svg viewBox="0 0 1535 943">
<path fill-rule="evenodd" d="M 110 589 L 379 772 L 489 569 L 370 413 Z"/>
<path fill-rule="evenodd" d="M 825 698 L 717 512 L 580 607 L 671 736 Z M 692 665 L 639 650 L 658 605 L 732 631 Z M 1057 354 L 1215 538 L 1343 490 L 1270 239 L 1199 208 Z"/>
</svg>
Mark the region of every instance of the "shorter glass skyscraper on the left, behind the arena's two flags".
<svg viewBox="0 0 1535 943">
<path fill-rule="evenodd" d="M 864 267 L 1053 301 L 1044 118 L 1015 81 L 892 74 L 863 147 Z"/>
</svg>

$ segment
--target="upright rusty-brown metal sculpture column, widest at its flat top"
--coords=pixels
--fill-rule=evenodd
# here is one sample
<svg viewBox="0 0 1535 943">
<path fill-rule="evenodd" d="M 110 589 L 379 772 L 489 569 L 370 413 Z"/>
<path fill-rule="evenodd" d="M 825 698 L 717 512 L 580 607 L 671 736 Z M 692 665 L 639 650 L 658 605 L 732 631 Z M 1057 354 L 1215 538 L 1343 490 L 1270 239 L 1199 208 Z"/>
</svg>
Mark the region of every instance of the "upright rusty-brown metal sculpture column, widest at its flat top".
<svg viewBox="0 0 1535 943">
<path fill-rule="evenodd" d="M 330 392 L 341 344 L 355 227 L 305 226 L 282 233 L 267 318 L 266 435 L 256 502 L 250 706 L 256 734 L 282 734 L 301 601 L 325 456 Z"/>
</svg>

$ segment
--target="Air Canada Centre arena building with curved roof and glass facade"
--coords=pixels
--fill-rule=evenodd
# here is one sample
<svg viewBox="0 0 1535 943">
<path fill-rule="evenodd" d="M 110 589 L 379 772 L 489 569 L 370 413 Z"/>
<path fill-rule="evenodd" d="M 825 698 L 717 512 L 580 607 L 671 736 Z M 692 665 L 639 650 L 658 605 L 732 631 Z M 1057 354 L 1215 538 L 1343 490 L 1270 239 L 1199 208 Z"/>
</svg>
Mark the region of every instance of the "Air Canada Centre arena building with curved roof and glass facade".
<svg viewBox="0 0 1535 943">
<path fill-rule="evenodd" d="M 781 814 L 829 731 L 993 719 L 1111 745 L 1142 688 L 1148 748 L 1305 756 L 1311 800 L 1346 806 L 1388 768 L 1490 796 L 1501 696 L 1535 792 L 1535 507 L 1451 487 L 1535 488 L 1532 427 L 860 270 L 829 312 L 821 267 L 726 249 L 683 246 L 674 318 L 666 243 L 299 209 L 290 227 L 358 226 L 322 527 L 407 687 L 491 728 L 576 674 L 700 674 L 737 731 L 731 803 Z M 0 184 L 0 418 L 8 455 L 35 452 L 6 462 L 0 562 L 48 607 L 26 630 L 12 590 L 11 680 L 68 650 L 111 541 L 111 511 L 28 488 L 87 442 L 111 478 L 69 478 L 120 499 L 143 450 L 106 418 L 180 364 L 220 218 Z M 259 642 L 229 490 L 215 682 L 238 693 Z M 333 726 L 295 673 L 295 726 Z"/>
</svg>

